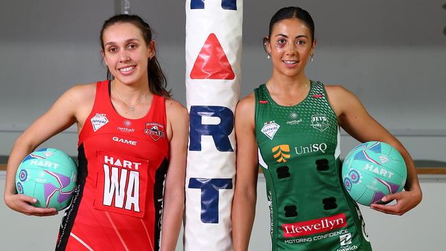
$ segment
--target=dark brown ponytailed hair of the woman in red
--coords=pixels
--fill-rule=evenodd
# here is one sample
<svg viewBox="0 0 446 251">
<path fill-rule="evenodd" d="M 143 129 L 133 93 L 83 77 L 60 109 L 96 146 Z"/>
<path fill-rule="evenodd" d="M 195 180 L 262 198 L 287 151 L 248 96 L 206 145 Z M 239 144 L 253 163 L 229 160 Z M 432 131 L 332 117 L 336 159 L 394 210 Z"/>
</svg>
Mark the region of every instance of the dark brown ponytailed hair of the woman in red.
<svg viewBox="0 0 446 251">
<path fill-rule="evenodd" d="M 152 29 L 150 28 L 150 25 L 148 23 L 145 23 L 145 21 L 141 19 L 141 17 L 137 15 L 119 14 L 110 17 L 110 19 L 107 19 L 104 22 L 104 25 L 102 25 L 99 40 L 101 43 L 101 48 L 103 50 L 104 50 L 104 40 L 102 39 L 102 36 L 104 35 L 104 30 L 107 27 L 114 25 L 115 23 L 131 23 L 132 25 L 136 26 L 139 30 L 141 30 L 141 33 L 143 34 L 143 38 L 146 44 L 149 44 L 150 41 L 152 41 Z M 150 60 L 148 59 L 147 71 L 148 71 L 150 92 L 163 97 L 171 97 L 172 94 L 170 93 L 170 90 L 167 91 L 166 89 L 167 78 L 165 77 L 163 69 L 161 69 L 159 62 L 156 59 L 156 55 L 154 55 Z M 113 80 L 113 75 L 111 75 L 110 70 L 108 70 L 108 68 L 107 68 L 107 79 Z"/>
</svg>

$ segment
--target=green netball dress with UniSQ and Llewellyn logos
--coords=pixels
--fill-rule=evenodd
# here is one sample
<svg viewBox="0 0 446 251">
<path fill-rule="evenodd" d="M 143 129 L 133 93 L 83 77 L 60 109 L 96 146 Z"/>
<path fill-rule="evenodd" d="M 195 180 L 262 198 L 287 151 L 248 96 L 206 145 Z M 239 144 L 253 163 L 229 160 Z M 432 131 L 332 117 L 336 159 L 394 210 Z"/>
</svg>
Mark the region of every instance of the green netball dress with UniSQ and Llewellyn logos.
<svg viewBox="0 0 446 251">
<path fill-rule="evenodd" d="M 270 206 L 271 250 L 372 250 L 357 204 L 342 187 L 340 132 L 325 88 L 280 106 L 255 89 L 255 135 Z"/>
</svg>

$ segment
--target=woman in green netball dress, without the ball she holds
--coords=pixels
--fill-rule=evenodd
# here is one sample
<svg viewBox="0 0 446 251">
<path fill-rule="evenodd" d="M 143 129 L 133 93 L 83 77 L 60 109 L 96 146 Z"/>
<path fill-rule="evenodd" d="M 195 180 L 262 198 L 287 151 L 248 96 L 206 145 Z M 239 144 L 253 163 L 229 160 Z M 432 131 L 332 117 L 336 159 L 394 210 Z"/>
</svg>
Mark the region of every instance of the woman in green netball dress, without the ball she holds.
<svg viewBox="0 0 446 251">
<path fill-rule="evenodd" d="M 237 177 L 233 200 L 234 250 L 247 250 L 253 227 L 257 174 L 266 179 L 271 250 L 372 250 L 357 204 L 342 187 L 340 127 L 361 142 L 382 141 L 403 156 L 408 179 L 400 193 L 372 204 L 402 215 L 421 202 L 408 151 L 342 86 L 305 75 L 316 47 L 314 21 L 296 7 L 282 8 L 263 40 L 272 75 L 237 105 Z"/>
</svg>

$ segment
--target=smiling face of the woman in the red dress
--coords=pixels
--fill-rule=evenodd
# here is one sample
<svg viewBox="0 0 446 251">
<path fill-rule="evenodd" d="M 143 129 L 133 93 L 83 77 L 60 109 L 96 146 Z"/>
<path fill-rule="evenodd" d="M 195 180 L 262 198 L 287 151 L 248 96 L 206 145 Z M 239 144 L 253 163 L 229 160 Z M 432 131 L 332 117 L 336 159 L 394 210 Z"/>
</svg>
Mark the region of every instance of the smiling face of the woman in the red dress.
<svg viewBox="0 0 446 251">
<path fill-rule="evenodd" d="M 102 56 L 115 80 L 122 84 L 148 81 L 148 60 L 154 56 L 154 41 L 145 42 L 132 23 L 115 23 L 104 29 Z"/>
</svg>

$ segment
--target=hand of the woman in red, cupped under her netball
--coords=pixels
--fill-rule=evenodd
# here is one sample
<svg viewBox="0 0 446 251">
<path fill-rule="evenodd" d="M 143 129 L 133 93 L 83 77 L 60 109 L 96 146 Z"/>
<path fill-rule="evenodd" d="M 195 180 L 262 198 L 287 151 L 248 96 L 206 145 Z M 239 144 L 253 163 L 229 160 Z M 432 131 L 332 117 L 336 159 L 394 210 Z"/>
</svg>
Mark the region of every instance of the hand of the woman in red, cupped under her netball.
<svg viewBox="0 0 446 251">
<path fill-rule="evenodd" d="M 37 202 L 36 198 L 24 194 L 5 194 L 5 204 L 19 213 L 35 216 L 51 216 L 58 214 L 56 208 L 38 208 L 32 206 L 32 203 L 35 202 Z"/>
</svg>

